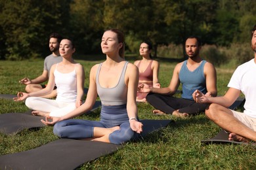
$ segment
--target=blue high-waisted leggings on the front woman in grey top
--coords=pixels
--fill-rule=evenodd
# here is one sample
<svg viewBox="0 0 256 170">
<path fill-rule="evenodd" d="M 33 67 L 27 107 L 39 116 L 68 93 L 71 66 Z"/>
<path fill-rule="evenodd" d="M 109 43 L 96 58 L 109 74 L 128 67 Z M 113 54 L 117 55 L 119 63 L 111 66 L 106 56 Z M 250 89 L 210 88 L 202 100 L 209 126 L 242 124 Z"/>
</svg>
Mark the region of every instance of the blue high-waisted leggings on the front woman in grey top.
<svg viewBox="0 0 256 170">
<path fill-rule="evenodd" d="M 109 135 L 110 143 L 121 144 L 133 138 L 134 131 L 130 127 L 126 105 L 104 106 L 100 113 L 100 122 L 93 120 L 70 119 L 57 122 L 53 132 L 62 138 L 86 139 L 94 137 L 94 127 L 120 126 Z"/>
</svg>

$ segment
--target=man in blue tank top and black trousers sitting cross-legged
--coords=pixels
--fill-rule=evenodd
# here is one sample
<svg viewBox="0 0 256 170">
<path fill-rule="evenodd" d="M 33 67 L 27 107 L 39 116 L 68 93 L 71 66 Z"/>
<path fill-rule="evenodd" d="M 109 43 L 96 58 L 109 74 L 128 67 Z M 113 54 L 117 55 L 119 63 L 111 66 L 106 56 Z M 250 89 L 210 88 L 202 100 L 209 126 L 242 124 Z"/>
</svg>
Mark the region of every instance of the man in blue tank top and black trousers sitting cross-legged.
<svg viewBox="0 0 256 170">
<path fill-rule="evenodd" d="M 216 70 L 211 63 L 200 58 L 200 39 L 188 37 L 185 48 L 188 59 L 175 66 L 168 87 L 149 88 L 146 84 L 139 87 L 141 92 L 150 92 L 146 100 L 156 108 L 153 110 L 154 114 L 172 114 L 179 117 L 198 114 L 204 112 L 208 104 L 196 103 L 192 93 L 200 90 L 207 96 L 217 95 Z M 182 84 L 181 98 L 173 97 L 180 84 Z"/>
</svg>

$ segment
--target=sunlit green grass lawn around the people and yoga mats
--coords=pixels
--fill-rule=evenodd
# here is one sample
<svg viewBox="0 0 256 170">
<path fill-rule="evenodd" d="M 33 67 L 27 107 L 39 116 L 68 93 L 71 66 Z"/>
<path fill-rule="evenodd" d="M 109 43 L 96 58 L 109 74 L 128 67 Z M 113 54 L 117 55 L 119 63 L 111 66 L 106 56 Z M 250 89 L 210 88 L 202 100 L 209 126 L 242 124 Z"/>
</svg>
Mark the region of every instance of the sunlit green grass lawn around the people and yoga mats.
<svg viewBox="0 0 256 170">
<path fill-rule="evenodd" d="M 82 57 L 80 57 L 81 59 Z M 93 61 L 97 58 L 97 61 Z M 95 63 L 104 58 L 86 56 L 77 60 L 85 68 L 85 87 L 89 85 L 89 71 Z M 135 58 L 127 57 L 133 62 Z M 168 86 L 177 60 L 159 59 L 160 82 Z M 24 76 L 34 78 L 43 70 L 43 59 L 36 61 L 0 61 L 0 93 L 15 94 L 24 91 L 24 85 L 18 80 Z M 223 95 L 234 69 L 217 68 L 218 95 Z M 181 89 L 181 88 L 180 88 Z M 179 96 L 179 95 L 178 95 Z M 0 99 L 0 113 L 24 112 L 27 108 L 22 102 Z M 255 147 L 236 144 L 200 143 L 213 137 L 220 128 L 207 120 L 203 114 L 190 118 L 172 116 L 154 116 L 153 107 L 139 103 L 140 119 L 173 119 L 165 129 L 151 133 L 143 140 L 126 143 L 113 154 L 102 156 L 85 163 L 80 169 L 255 169 Z M 242 109 L 242 108 L 240 108 Z M 79 118 L 99 120 L 100 109 Z M 0 155 L 30 150 L 58 139 L 53 135 L 53 127 L 24 130 L 15 135 L 0 133 Z"/>
</svg>

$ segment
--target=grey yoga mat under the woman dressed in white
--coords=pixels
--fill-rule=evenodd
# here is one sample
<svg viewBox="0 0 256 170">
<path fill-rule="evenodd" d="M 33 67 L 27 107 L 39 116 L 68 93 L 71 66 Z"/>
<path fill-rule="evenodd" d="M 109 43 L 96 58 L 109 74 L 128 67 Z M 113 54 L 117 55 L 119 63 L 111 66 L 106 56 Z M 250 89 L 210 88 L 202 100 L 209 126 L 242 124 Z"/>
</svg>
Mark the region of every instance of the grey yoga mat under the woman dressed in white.
<svg viewBox="0 0 256 170">
<path fill-rule="evenodd" d="M 91 111 L 98 109 L 101 106 L 100 101 L 96 101 Z M 0 132 L 7 135 L 18 133 L 23 129 L 31 129 L 35 127 L 44 127 L 45 124 L 41 122 L 43 116 L 33 116 L 32 110 L 27 112 L 11 112 L 0 114 Z"/>
</svg>

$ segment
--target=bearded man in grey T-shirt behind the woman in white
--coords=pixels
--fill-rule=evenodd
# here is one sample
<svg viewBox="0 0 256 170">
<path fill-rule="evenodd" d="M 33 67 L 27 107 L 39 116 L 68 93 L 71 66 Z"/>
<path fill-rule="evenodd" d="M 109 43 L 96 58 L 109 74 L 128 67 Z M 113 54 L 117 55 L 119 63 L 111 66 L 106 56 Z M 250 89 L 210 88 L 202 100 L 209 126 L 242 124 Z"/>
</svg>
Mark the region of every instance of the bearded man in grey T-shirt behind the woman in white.
<svg viewBox="0 0 256 170">
<path fill-rule="evenodd" d="M 62 37 L 58 35 L 58 33 L 51 33 L 49 37 L 49 48 L 52 54 L 45 58 L 42 75 L 39 75 L 36 78 L 33 78 L 32 80 L 30 80 L 30 78 L 28 77 L 25 77 L 19 81 L 21 84 L 26 85 L 26 88 L 25 88 L 26 92 L 28 93 L 37 92 L 47 86 L 47 84 L 41 84 L 41 83 L 46 82 L 49 79 L 49 73 L 52 65 L 62 61 L 62 57 L 60 56 L 60 52 L 58 50 L 61 40 L 62 40 Z M 56 97 L 56 95 L 57 93 L 56 93 L 56 86 L 55 86 L 52 93 L 50 93 L 49 95 L 41 96 L 41 97 L 53 98 L 53 97 Z"/>
</svg>

